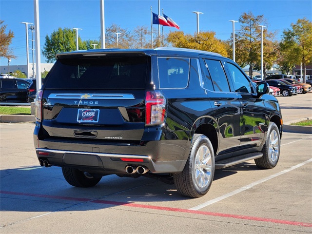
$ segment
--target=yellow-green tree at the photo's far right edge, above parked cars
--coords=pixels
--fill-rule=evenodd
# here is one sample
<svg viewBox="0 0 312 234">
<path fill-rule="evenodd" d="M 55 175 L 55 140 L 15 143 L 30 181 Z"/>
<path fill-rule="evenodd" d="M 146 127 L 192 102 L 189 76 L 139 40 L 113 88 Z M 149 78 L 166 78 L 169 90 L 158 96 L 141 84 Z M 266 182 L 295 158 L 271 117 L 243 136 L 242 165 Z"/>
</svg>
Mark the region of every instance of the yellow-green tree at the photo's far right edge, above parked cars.
<svg viewBox="0 0 312 234">
<path fill-rule="evenodd" d="M 282 42 L 285 47 L 293 49 L 297 53 L 296 63 L 302 62 L 303 82 L 306 81 L 306 64 L 312 60 L 312 21 L 306 18 L 297 20 L 296 24 L 291 24 L 292 29 L 283 32 Z"/>
</svg>

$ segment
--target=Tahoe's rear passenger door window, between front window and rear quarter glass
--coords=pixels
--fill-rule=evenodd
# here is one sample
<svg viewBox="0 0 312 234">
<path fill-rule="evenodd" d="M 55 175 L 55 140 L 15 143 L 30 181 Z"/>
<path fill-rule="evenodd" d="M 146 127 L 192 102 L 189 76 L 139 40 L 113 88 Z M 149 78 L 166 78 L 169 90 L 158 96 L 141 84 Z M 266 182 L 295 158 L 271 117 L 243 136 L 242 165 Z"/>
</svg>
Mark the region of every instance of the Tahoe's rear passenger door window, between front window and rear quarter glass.
<svg viewBox="0 0 312 234">
<path fill-rule="evenodd" d="M 221 61 L 205 59 L 205 62 L 213 81 L 214 90 L 217 92 L 230 92 L 229 82 L 225 76 Z"/>
</svg>

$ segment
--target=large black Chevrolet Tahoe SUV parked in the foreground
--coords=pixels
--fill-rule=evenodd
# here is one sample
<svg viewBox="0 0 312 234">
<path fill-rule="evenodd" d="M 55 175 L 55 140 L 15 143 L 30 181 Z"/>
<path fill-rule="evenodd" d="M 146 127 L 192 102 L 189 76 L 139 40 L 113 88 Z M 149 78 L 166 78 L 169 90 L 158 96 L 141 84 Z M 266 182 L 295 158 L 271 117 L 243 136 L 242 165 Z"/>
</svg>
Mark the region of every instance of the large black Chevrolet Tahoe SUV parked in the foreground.
<svg viewBox="0 0 312 234">
<path fill-rule="evenodd" d="M 205 195 L 215 169 L 276 166 L 282 117 L 269 85 L 205 51 L 104 49 L 57 55 L 36 97 L 41 166 L 77 187 L 148 176 Z"/>
</svg>

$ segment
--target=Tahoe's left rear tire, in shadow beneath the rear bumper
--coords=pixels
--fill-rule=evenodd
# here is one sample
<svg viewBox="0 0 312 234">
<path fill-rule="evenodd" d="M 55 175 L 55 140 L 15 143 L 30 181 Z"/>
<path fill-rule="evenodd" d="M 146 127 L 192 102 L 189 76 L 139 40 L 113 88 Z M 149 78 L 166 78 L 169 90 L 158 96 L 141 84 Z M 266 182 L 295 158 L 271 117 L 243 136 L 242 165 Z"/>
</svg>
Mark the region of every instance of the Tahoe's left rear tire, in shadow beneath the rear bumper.
<svg viewBox="0 0 312 234">
<path fill-rule="evenodd" d="M 81 172 L 78 169 L 70 167 L 62 167 L 63 176 L 67 183 L 80 188 L 88 188 L 95 186 L 101 180 L 100 177 L 93 177 L 91 174 Z"/>
</svg>

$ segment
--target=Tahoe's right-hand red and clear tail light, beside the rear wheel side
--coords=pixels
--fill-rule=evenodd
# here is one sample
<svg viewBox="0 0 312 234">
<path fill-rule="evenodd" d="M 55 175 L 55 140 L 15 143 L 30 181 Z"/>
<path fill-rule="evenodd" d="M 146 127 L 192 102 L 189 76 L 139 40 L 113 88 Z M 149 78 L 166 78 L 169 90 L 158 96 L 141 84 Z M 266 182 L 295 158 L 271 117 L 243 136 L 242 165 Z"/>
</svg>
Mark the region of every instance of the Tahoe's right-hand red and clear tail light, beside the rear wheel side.
<svg viewBox="0 0 312 234">
<path fill-rule="evenodd" d="M 147 91 L 145 94 L 145 124 L 157 125 L 165 120 L 166 98 L 160 91 Z"/>
</svg>

